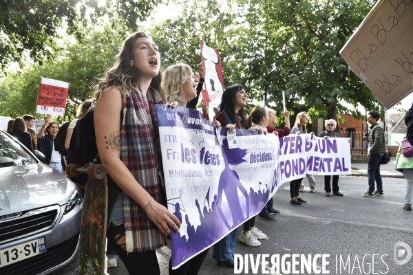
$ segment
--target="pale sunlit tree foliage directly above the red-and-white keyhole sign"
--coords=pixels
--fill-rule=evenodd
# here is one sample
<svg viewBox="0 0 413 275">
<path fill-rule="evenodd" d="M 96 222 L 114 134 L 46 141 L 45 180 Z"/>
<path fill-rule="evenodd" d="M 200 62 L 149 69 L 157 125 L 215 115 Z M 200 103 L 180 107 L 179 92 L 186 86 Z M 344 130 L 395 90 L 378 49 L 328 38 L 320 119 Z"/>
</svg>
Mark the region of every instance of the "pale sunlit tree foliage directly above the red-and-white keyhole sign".
<svg viewBox="0 0 413 275">
<path fill-rule="evenodd" d="M 201 65 L 200 41 L 220 51 L 224 85 L 232 85 L 237 76 L 234 60 L 235 39 L 238 27 L 234 23 L 231 7 L 225 2 L 177 1 L 182 14 L 177 19 L 167 19 L 150 30 L 153 41 L 159 46 L 162 67 L 187 63 L 197 72 Z"/>
</svg>

